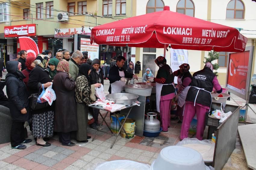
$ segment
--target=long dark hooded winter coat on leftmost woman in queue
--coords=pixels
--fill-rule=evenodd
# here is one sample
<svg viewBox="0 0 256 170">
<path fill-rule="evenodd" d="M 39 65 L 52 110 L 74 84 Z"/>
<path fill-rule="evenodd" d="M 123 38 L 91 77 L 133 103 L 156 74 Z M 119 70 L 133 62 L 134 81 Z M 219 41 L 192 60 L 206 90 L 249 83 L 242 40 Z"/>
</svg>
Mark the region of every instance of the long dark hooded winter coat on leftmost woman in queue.
<svg viewBox="0 0 256 170">
<path fill-rule="evenodd" d="M 30 119 L 30 102 L 27 87 L 23 80 L 15 75 L 17 61 L 9 62 L 6 75 L 6 93 L 9 99 L 9 109 L 14 122 L 25 122 Z M 15 69 L 16 68 L 16 69 Z M 20 110 L 26 108 L 27 114 L 21 114 Z"/>
</svg>

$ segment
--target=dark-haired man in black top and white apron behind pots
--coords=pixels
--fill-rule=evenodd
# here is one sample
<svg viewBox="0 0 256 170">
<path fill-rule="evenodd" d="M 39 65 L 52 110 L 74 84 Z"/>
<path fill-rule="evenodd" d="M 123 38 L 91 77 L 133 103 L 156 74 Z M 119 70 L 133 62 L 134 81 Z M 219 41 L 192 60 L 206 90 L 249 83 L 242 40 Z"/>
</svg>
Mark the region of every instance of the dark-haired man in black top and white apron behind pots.
<svg viewBox="0 0 256 170">
<path fill-rule="evenodd" d="M 124 68 L 125 58 L 123 56 L 117 57 L 117 63 L 109 70 L 109 82 L 110 87 L 108 89 L 109 93 L 121 93 L 121 91 L 124 90 L 125 86 L 125 78 L 136 78 L 138 79 L 138 76 L 134 74 L 127 73 Z"/>
</svg>

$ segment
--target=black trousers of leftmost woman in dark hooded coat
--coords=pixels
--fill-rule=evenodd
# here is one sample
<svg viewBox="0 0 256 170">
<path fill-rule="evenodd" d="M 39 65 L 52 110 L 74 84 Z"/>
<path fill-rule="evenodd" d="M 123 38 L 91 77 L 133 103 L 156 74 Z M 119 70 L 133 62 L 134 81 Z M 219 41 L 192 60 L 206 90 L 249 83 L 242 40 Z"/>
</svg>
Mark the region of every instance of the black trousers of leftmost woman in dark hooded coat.
<svg viewBox="0 0 256 170">
<path fill-rule="evenodd" d="M 24 128 L 25 122 L 12 122 L 11 124 L 11 146 L 16 147 L 21 142 L 25 141 L 26 131 Z"/>
</svg>

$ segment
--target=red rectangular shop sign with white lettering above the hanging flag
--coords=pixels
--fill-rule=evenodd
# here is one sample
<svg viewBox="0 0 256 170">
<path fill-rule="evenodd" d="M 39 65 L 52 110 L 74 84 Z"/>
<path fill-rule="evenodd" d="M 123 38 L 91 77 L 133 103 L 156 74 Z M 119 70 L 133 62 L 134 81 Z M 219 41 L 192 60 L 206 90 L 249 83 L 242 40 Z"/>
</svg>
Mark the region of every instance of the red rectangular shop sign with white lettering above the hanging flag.
<svg viewBox="0 0 256 170">
<path fill-rule="evenodd" d="M 5 37 L 35 36 L 36 24 L 5 26 Z"/>
</svg>

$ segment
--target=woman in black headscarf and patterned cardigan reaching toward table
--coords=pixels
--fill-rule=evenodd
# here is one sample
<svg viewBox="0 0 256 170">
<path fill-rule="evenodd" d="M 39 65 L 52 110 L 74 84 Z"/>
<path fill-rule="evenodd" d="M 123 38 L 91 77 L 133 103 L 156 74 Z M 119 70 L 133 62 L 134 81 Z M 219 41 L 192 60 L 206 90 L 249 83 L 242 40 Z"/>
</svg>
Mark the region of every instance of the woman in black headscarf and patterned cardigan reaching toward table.
<svg viewBox="0 0 256 170">
<path fill-rule="evenodd" d="M 91 88 L 101 87 L 101 83 L 91 85 L 90 72 L 92 66 L 85 63 L 80 65 L 78 77 L 76 78 L 76 111 L 77 111 L 77 123 L 78 130 L 76 132 L 76 140 L 80 142 L 88 142 L 89 136 L 87 136 L 87 119 L 88 119 L 88 105 L 92 102 L 90 99 Z"/>
</svg>

